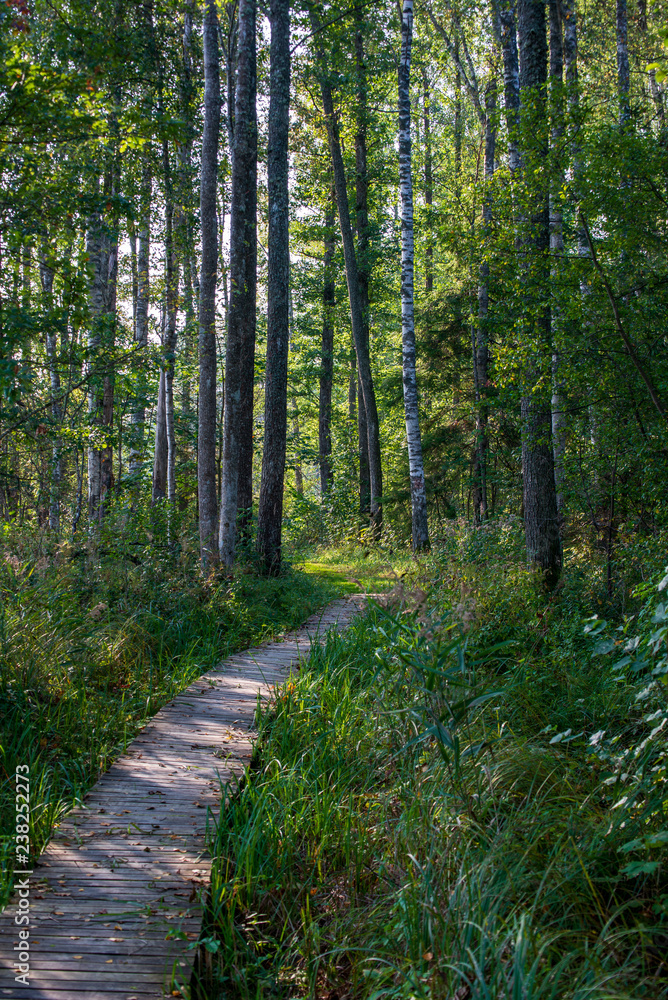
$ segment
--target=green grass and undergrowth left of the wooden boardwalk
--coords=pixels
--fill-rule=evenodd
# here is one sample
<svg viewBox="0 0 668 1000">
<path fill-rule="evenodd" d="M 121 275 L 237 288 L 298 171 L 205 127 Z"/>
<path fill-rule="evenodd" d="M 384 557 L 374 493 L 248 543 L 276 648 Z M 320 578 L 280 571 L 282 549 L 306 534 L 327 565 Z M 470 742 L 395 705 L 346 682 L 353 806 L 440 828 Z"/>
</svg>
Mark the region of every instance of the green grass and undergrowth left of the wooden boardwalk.
<svg viewBox="0 0 668 1000">
<path fill-rule="evenodd" d="M 203 580 L 196 539 L 57 547 L 7 529 L 0 552 L 0 905 L 11 888 L 17 765 L 30 769 L 35 856 L 139 729 L 225 655 L 286 629 L 338 593 L 286 568 Z M 158 536 L 159 537 L 159 536 Z M 132 540 L 131 540 L 132 541 Z"/>
</svg>

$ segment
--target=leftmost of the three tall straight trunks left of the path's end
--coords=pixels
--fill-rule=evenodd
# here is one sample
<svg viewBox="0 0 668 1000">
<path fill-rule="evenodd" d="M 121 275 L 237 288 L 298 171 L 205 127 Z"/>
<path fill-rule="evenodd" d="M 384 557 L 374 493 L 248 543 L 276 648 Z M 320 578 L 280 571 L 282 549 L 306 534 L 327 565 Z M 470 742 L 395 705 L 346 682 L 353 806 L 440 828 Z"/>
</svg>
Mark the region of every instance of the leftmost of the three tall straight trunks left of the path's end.
<svg viewBox="0 0 668 1000">
<path fill-rule="evenodd" d="M 216 277 L 218 273 L 218 138 L 220 66 L 218 15 L 214 0 L 204 14 L 204 131 L 200 183 L 202 269 L 199 294 L 199 415 L 197 493 L 202 568 L 218 560 L 216 549 Z"/>
</svg>

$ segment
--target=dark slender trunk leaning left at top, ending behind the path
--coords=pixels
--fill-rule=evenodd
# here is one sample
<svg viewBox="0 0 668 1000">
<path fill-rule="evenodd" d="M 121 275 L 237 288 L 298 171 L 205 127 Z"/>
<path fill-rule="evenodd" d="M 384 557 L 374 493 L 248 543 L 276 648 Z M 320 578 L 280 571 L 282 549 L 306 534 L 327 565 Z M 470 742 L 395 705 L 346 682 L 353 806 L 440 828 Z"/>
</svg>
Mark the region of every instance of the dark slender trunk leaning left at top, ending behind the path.
<svg viewBox="0 0 668 1000">
<path fill-rule="evenodd" d="M 334 173 L 334 185 L 336 188 L 336 204 L 339 214 L 339 224 L 341 228 L 341 242 L 343 244 L 343 256 L 346 267 L 346 281 L 348 284 L 348 299 L 350 302 L 350 320 L 355 340 L 355 351 L 357 354 L 357 366 L 359 371 L 360 385 L 362 389 L 362 399 L 367 419 L 368 444 L 369 444 L 369 478 L 371 482 L 371 520 L 376 537 L 380 535 L 382 528 L 382 488 L 383 475 L 380 455 L 380 433 L 378 425 L 378 408 L 376 405 L 376 394 L 373 387 L 371 375 L 371 364 L 369 360 L 369 345 L 364 337 L 364 316 L 359 294 L 359 274 L 357 267 L 357 257 L 355 255 L 355 244 L 353 241 L 353 231 L 350 224 L 350 210 L 348 208 L 348 190 L 346 185 L 346 174 L 341 154 L 341 140 L 339 137 L 339 126 L 334 114 L 334 102 L 332 100 L 332 90 L 327 77 L 327 66 L 322 46 L 318 40 L 317 32 L 320 29 L 319 20 L 313 10 L 310 12 L 311 25 L 316 32 L 316 49 L 320 62 L 320 91 L 322 95 L 323 109 L 327 124 L 327 136 L 329 140 L 329 150 L 332 159 L 332 169 Z M 361 400 L 360 400 L 361 402 Z"/>
</svg>

